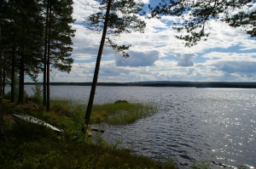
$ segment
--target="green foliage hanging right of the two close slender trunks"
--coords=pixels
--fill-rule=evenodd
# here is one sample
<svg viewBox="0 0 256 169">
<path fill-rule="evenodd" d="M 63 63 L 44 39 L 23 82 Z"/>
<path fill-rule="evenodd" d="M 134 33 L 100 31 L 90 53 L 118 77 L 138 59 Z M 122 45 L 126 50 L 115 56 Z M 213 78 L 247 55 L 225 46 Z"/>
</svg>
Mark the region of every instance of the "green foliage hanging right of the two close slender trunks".
<svg viewBox="0 0 256 169">
<path fill-rule="evenodd" d="M 49 24 L 50 64 L 57 70 L 69 73 L 72 69 L 72 37 L 75 30 L 70 26 L 73 23 L 73 0 L 44 1 L 44 8 L 51 6 Z M 49 5 L 48 5 L 49 3 Z M 45 14 L 46 15 L 46 14 Z"/>
</svg>

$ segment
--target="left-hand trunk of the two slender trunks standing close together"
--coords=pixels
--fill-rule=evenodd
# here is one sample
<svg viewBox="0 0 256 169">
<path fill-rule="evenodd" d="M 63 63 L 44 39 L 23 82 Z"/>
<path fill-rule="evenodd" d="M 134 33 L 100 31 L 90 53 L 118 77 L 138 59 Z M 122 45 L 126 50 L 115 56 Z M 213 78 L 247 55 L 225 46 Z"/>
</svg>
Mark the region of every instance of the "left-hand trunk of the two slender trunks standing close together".
<svg viewBox="0 0 256 169">
<path fill-rule="evenodd" d="M 44 82 L 43 82 L 43 105 L 46 106 L 46 67 L 47 67 L 47 40 L 48 40 L 48 16 L 49 15 L 49 1 L 46 9 L 46 22 L 44 31 Z"/>
</svg>

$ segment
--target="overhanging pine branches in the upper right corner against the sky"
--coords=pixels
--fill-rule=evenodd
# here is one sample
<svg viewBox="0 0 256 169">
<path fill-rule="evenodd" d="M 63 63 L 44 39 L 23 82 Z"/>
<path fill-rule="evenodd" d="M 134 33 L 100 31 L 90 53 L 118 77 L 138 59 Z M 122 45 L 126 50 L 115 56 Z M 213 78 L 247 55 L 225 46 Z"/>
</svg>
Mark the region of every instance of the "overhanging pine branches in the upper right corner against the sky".
<svg viewBox="0 0 256 169">
<path fill-rule="evenodd" d="M 230 26 L 245 29 L 251 37 L 256 36 L 256 12 L 253 5 L 255 0 L 231 1 L 174 1 L 161 0 L 161 3 L 152 9 L 152 17 L 162 15 L 176 15 L 183 19 L 183 23 L 176 23 L 174 29 L 185 30 L 188 35 L 177 36 L 186 41 L 185 46 L 191 47 L 197 42 L 207 40 L 209 32 L 206 31 L 208 20 L 221 20 Z M 149 5 L 150 8 L 150 5 Z"/>
</svg>

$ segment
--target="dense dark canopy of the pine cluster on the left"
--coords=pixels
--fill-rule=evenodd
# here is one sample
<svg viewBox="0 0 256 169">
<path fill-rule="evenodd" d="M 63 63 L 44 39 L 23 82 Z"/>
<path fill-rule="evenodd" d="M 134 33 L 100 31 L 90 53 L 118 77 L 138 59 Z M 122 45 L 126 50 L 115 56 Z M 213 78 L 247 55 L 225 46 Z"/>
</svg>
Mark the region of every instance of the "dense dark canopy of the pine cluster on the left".
<svg viewBox="0 0 256 169">
<path fill-rule="evenodd" d="M 15 72 L 19 75 L 18 103 L 24 102 L 24 76 L 30 76 L 36 81 L 46 65 L 45 56 L 49 59 L 48 67 L 67 72 L 72 69 L 72 5 L 73 0 L 1 1 L 3 82 L 12 76 L 11 82 L 14 83 Z M 45 45 L 45 40 L 49 40 L 48 45 Z M 44 48 L 49 48 L 49 51 L 46 50 L 48 55 L 45 55 Z M 13 85 L 11 90 L 14 90 Z"/>
</svg>

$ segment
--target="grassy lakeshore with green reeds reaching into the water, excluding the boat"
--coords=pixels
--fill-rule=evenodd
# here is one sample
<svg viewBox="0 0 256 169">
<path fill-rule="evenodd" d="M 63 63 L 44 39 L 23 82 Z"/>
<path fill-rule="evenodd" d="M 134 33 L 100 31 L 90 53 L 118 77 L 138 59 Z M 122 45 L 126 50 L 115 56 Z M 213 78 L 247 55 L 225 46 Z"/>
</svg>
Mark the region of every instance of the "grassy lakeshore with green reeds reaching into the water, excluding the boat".
<svg viewBox="0 0 256 169">
<path fill-rule="evenodd" d="M 11 118 L 12 112 L 33 115 L 65 132 L 58 134 L 35 124 L 17 124 Z M 156 110 L 150 105 L 101 104 L 94 106 L 91 123 L 123 125 L 154 113 Z M 72 100 L 52 100 L 50 112 L 37 104 L 16 105 L 5 100 L 6 136 L 0 139 L 0 168 L 176 168 L 172 160 L 162 163 L 132 155 L 102 138 L 94 144 L 81 132 L 84 115 L 85 106 Z"/>
</svg>

